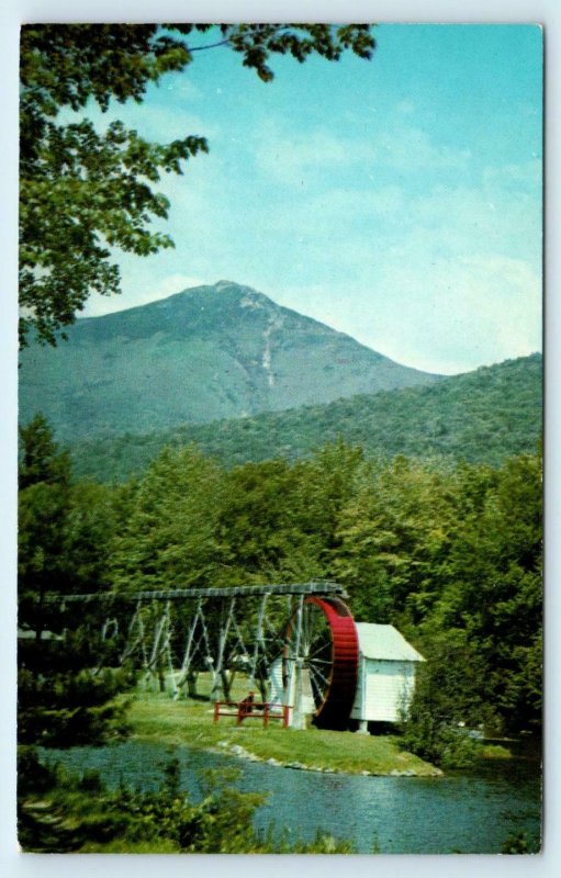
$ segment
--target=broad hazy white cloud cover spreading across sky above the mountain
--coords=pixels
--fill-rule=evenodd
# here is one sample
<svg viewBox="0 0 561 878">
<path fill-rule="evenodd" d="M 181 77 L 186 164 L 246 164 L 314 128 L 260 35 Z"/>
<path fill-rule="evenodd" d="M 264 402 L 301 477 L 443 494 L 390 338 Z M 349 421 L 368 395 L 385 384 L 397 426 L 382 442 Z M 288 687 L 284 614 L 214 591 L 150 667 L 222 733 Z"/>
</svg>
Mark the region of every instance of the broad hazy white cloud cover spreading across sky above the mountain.
<svg viewBox="0 0 561 878">
<path fill-rule="evenodd" d="M 120 258 L 123 295 L 87 313 L 225 277 L 420 369 L 527 354 L 541 341 L 539 173 L 536 160 L 474 167 L 403 109 L 360 145 L 287 123 L 231 134 L 158 184 L 176 250 Z"/>
</svg>

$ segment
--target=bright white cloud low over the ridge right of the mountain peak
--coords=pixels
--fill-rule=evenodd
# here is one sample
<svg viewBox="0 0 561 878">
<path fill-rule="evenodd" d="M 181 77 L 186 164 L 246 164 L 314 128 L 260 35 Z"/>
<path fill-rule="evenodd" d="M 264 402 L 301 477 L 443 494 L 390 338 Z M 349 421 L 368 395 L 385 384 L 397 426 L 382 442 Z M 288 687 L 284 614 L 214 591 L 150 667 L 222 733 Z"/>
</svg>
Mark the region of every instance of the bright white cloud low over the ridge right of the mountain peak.
<svg viewBox="0 0 561 878">
<path fill-rule="evenodd" d="M 273 285 L 270 294 L 426 371 L 453 374 L 541 349 L 541 277 L 523 259 L 472 255 L 428 264 L 406 243 L 374 264 L 356 244 L 352 256 L 356 271 L 344 280 Z"/>
</svg>

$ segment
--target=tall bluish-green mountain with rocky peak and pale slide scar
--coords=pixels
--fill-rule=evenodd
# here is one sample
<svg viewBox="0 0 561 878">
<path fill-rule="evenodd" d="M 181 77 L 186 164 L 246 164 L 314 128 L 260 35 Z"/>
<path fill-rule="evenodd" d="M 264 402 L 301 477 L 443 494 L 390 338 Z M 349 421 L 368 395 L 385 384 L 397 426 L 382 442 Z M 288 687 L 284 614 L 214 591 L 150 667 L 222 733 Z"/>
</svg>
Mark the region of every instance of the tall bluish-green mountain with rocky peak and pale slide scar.
<svg viewBox="0 0 561 878">
<path fill-rule="evenodd" d="M 22 352 L 20 420 L 56 437 L 117 436 L 431 384 L 349 336 L 220 281 L 102 317 Z"/>
</svg>

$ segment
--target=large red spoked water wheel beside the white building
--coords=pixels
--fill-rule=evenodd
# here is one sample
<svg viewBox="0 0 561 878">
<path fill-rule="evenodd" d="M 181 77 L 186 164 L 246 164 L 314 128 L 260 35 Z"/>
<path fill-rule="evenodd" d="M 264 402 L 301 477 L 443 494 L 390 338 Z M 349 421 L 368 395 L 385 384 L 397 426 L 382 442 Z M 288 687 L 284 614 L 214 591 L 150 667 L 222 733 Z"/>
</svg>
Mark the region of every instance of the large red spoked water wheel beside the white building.
<svg viewBox="0 0 561 878">
<path fill-rule="evenodd" d="M 358 679 L 358 635 L 347 605 L 338 597 L 306 597 L 299 626 L 293 614 L 285 632 L 283 677 L 298 663 L 310 680 L 314 724 L 345 729 Z"/>
</svg>

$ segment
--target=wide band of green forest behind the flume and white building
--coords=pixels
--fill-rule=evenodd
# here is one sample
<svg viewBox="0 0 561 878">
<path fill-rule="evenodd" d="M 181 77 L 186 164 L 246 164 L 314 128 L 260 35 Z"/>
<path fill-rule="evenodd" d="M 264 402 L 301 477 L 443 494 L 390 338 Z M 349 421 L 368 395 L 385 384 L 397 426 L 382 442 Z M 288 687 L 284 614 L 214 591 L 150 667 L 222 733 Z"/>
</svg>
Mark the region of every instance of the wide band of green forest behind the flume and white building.
<svg viewBox="0 0 561 878">
<path fill-rule="evenodd" d="M 418 689 L 428 755 L 426 722 L 539 725 L 538 457 L 382 462 L 339 442 L 228 471 L 187 447 L 109 486 L 71 477 L 41 421 L 25 441 L 22 599 L 332 578 L 357 620 L 395 624 L 430 660 Z"/>
</svg>

